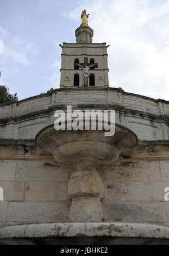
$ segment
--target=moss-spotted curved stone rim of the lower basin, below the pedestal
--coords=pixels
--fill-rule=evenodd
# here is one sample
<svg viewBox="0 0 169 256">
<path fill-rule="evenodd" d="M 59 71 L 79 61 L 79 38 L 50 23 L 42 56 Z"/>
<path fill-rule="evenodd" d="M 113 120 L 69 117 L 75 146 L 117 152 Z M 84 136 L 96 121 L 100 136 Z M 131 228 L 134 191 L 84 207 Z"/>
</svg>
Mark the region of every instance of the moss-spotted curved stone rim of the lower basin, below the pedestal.
<svg viewBox="0 0 169 256">
<path fill-rule="evenodd" d="M 52 223 L 0 228 L 0 239 L 41 237 L 169 238 L 169 227 L 139 223 Z"/>
</svg>

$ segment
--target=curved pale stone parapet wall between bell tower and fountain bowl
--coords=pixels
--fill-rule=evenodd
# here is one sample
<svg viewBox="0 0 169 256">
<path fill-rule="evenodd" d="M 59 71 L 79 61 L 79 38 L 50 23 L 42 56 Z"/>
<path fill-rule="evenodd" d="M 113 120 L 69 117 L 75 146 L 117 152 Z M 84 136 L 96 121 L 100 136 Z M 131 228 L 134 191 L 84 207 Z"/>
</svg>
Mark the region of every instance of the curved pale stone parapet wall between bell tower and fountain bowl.
<svg viewBox="0 0 169 256">
<path fill-rule="evenodd" d="M 69 88 L 0 105 L 0 138 L 33 139 L 54 123 L 54 112 L 74 109 L 115 110 L 116 122 L 136 133 L 139 140 L 168 140 L 169 102 L 115 88 Z"/>
</svg>

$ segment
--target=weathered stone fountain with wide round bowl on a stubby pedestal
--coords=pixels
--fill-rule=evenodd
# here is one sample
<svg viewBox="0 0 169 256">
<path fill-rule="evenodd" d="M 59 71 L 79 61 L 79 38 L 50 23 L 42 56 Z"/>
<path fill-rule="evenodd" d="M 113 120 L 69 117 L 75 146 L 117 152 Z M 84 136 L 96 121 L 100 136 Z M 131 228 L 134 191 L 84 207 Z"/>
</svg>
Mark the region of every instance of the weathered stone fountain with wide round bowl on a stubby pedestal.
<svg viewBox="0 0 169 256">
<path fill-rule="evenodd" d="M 57 163 L 76 168 L 68 183 L 69 222 L 101 222 L 104 187 L 97 168 L 111 166 L 123 150 L 137 144 L 135 133 L 122 125 L 115 124 L 112 137 L 104 132 L 56 131 L 50 125 L 36 136 L 37 145 L 52 153 Z"/>
</svg>

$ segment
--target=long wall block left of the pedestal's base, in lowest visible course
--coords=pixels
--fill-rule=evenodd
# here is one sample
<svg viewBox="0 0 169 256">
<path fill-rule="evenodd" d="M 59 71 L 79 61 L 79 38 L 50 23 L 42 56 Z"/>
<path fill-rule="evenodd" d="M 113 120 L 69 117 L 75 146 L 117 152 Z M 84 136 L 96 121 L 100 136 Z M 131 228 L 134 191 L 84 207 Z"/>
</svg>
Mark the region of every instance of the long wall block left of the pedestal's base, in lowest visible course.
<svg viewBox="0 0 169 256">
<path fill-rule="evenodd" d="M 68 207 L 65 203 L 30 203 L 10 202 L 7 212 L 7 221 L 23 223 L 66 222 Z"/>
</svg>

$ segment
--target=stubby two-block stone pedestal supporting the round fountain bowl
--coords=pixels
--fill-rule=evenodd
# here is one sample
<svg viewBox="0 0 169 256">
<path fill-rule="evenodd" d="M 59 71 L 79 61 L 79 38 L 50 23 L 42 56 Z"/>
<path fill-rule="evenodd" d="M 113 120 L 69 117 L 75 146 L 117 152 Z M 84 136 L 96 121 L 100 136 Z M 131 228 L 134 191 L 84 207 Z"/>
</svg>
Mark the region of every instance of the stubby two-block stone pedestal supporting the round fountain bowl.
<svg viewBox="0 0 169 256">
<path fill-rule="evenodd" d="M 78 164 L 68 183 L 68 196 L 72 198 L 70 222 L 100 222 L 103 219 L 104 187 L 95 165 Z"/>
</svg>

